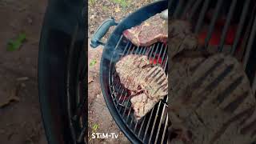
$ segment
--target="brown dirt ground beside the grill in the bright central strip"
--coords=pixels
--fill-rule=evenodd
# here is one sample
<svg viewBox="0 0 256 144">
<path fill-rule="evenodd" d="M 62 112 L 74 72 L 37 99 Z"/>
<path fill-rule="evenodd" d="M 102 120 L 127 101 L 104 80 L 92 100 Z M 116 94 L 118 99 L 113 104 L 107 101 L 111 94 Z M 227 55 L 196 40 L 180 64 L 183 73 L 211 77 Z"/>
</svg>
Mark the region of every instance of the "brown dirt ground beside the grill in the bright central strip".
<svg viewBox="0 0 256 144">
<path fill-rule="evenodd" d="M 114 17 L 116 22 L 153 0 L 90 0 L 89 1 L 89 37 L 106 18 Z M 114 30 L 111 27 L 102 39 L 106 42 L 109 34 Z M 90 43 L 90 38 L 88 39 Z M 104 101 L 99 83 L 99 63 L 103 46 L 96 49 L 88 47 L 88 97 L 89 97 L 89 143 L 130 143 L 114 122 Z M 92 133 L 115 133 L 118 138 L 93 139 Z"/>
</svg>

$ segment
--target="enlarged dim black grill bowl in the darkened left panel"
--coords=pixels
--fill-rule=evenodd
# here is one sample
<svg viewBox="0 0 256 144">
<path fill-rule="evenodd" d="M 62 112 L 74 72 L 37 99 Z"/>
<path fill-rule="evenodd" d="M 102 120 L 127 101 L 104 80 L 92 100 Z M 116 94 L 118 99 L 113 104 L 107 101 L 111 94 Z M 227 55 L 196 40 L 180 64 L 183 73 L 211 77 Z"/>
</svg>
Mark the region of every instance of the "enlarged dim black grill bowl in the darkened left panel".
<svg viewBox="0 0 256 144">
<path fill-rule="evenodd" d="M 82 66 L 79 62 L 84 62 L 84 66 L 86 63 L 83 6 L 82 0 L 50 0 L 42 24 L 38 91 L 42 120 L 50 144 L 86 143 L 81 136 L 82 129 L 74 121 L 78 106 L 78 94 L 74 92 L 81 82 L 78 80 Z M 85 86 L 87 80 L 84 82 Z"/>
</svg>

